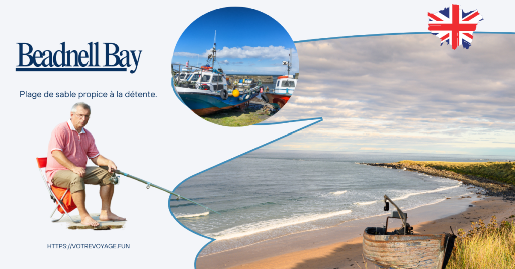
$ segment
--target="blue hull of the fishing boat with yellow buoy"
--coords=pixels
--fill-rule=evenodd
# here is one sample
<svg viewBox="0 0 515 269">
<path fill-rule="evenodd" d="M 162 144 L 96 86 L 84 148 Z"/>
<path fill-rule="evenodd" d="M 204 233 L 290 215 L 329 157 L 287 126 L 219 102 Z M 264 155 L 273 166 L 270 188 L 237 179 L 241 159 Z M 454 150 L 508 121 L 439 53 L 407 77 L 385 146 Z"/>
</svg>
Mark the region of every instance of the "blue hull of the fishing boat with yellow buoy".
<svg viewBox="0 0 515 269">
<path fill-rule="evenodd" d="M 198 116 L 205 116 L 220 110 L 232 109 L 244 105 L 259 95 L 259 91 L 252 92 L 249 99 L 239 100 L 239 97 L 229 95 L 226 100 L 213 94 L 178 93 L 184 104 Z"/>
</svg>

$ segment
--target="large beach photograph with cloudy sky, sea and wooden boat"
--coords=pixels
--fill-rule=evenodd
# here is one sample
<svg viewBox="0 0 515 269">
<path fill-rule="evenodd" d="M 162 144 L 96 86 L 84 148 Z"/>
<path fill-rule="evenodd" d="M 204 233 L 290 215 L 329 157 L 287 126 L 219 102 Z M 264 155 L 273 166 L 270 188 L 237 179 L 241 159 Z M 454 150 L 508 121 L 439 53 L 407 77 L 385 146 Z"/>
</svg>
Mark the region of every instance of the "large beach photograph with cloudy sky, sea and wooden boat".
<svg viewBox="0 0 515 269">
<path fill-rule="evenodd" d="M 515 45 L 474 34 L 296 43 L 309 129 L 198 174 L 174 217 L 214 239 L 197 268 L 513 268 Z M 328 79 L 327 74 L 334 74 Z"/>
</svg>

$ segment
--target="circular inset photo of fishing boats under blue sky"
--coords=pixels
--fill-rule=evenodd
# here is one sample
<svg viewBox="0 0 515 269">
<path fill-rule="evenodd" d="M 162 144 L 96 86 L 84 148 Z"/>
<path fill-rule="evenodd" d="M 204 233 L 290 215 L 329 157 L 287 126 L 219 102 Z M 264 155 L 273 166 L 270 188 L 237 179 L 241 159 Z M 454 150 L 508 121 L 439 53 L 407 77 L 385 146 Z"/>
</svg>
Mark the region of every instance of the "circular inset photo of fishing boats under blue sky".
<svg viewBox="0 0 515 269">
<path fill-rule="evenodd" d="M 245 20 L 238 18 L 245 17 Z M 178 98 L 203 119 L 242 127 L 276 114 L 294 93 L 297 49 L 267 14 L 226 7 L 200 16 L 181 34 L 171 63 Z"/>
</svg>

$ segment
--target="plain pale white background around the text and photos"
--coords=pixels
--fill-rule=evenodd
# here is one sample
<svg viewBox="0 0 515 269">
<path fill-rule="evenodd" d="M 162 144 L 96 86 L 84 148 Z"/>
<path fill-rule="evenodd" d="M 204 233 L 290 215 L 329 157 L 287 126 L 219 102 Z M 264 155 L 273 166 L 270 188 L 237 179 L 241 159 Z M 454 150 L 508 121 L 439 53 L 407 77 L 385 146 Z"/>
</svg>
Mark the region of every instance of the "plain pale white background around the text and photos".
<svg viewBox="0 0 515 269">
<path fill-rule="evenodd" d="M 170 190 L 195 173 L 312 123 L 220 127 L 197 117 L 180 103 L 170 86 L 171 56 L 182 30 L 198 16 L 224 6 L 246 6 L 274 17 L 291 38 L 298 41 L 427 31 L 427 12 L 452 4 L 447 1 L 225 1 L 223 6 L 217 3 L 220 2 L 2 3 L 0 262 L 3 265 L 8 268 L 193 268 L 198 251 L 209 242 L 185 230 L 170 216 L 167 193 L 154 188 L 147 190 L 144 184 L 129 178 L 122 178 L 122 183 L 116 187 L 112 207 L 119 216 L 128 218 L 125 229 L 78 231 L 50 223 L 48 214 L 53 204 L 48 199 L 35 158 L 46 156 L 50 132 L 68 119 L 70 108 L 77 101 L 87 102 L 92 107 L 86 129 L 95 135 L 102 155 L 113 159 L 120 170 Z M 465 11 L 478 9 L 484 17 L 478 31 L 513 31 L 513 23 L 508 21 L 513 2 L 454 4 L 460 4 Z M 235 22 L 249 19 L 235 15 Z M 18 65 L 17 42 L 30 43 L 35 49 L 56 51 L 63 41 L 66 49 L 88 49 L 87 43 L 98 41 L 143 52 L 135 74 L 128 71 L 113 74 L 14 71 Z M 150 91 L 158 97 L 33 100 L 20 98 L 20 91 Z M 99 212 L 97 193 L 97 186 L 87 186 L 86 206 L 90 213 Z M 123 243 L 130 244 L 130 249 L 47 249 L 47 244 L 56 243 Z"/>
</svg>

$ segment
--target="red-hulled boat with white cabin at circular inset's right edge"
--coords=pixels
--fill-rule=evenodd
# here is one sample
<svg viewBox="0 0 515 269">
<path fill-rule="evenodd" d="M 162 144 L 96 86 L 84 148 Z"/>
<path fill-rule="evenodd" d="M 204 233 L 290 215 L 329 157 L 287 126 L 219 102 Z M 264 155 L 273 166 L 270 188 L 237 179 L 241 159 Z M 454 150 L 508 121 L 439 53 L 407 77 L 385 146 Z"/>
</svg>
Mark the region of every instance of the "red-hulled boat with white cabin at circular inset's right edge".
<svg viewBox="0 0 515 269">
<path fill-rule="evenodd" d="M 275 88 L 269 89 L 261 95 L 261 99 L 263 99 L 263 101 L 270 103 L 276 109 L 282 109 L 294 93 L 295 87 L 297 86 L 297 79 L 295 79 L 293 75 L 289 74 L 289 71 L 291 70 L 291 49 L 289 57 L 289 62 L 283 62 L 283 65 L 287 65 L 288 75 L 277 77 Z"/>
</svg>

